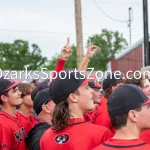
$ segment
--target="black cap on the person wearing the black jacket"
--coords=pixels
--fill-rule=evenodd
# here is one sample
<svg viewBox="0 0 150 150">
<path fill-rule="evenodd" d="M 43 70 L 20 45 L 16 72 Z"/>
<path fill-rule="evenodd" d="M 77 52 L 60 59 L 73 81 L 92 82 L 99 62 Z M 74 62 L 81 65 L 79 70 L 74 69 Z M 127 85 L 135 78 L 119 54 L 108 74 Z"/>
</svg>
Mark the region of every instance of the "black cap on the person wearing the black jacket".
<svg viewBox="0 0 150 150">
<path fill-rule="evenodd" d="M 45 88 L 37 93 L 33 100 L 33 108 L 38 115 L 42 111 L 42 105 L 51 100 L 49 88 Z"/>
</svg>

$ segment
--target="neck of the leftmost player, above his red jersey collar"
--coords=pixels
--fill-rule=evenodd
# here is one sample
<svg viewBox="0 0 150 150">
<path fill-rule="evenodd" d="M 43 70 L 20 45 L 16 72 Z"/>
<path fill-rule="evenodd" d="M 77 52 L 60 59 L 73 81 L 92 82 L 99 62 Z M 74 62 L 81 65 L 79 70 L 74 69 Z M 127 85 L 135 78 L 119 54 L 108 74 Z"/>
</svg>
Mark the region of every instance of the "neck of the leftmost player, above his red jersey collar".
<svg viewBox="0 0 150 150">
<path fill-rule="evenodd" d="M 3 105 L 1 110 L 7 112 L 11 116 L 16 117 L 16 107 L 15 106 L 13 107 L 13 106 L 9 106 L 9 105 L 7 105 L 7 106 Z"/>
</svg>

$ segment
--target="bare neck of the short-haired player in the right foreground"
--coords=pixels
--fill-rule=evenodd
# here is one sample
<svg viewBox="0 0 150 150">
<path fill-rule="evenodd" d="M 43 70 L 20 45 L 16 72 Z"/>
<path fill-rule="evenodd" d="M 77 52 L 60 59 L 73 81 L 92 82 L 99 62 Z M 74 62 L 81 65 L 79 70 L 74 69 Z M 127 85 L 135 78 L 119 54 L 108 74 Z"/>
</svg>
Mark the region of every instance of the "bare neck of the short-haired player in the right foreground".
<svg viewBox="0 0 150 150">
<path fill-rule="evenodd" d="M 122 127 L 116 130 L 116 134 L 113 136 L 114 139 L 138 139 L 140 131 L 135 127 Z"/>
</svg>

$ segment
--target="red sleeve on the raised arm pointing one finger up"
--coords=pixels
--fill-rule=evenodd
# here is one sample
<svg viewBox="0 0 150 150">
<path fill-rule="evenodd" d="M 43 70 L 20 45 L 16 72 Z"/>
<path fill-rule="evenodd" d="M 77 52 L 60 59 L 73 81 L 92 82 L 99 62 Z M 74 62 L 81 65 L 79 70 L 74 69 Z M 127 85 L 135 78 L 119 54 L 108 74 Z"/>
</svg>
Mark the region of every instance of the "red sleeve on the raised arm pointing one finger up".
<svg viewBox="0 0 150 150">
<path fill-rule="evenodd" d="M 57 61 L 55 71 L 60 72 L 60 71 L 64 70 L 65 63 L 66 63 L 66 60 L 62 60 L 59 58 Z M 54 72 L 52 78 L 54 78 L 55 76 L 56 76 L 56 73 Z"/>
</svg>

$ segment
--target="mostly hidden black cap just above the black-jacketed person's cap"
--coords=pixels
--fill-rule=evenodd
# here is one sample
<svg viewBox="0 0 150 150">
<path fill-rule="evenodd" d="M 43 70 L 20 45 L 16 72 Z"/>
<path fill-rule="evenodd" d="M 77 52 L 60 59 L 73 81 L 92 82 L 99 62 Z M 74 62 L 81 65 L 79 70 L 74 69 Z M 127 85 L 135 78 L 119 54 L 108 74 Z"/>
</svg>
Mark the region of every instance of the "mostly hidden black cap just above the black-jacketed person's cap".
<svg viewBox="0 0 150 150">
<path fill-rule="evenodd" d="M 33 89 L 32 93 L 31 93 L 31 99 L 34 100 L 36 94 L 38 92 L 40 92 L 41 90 L 48 88 L 50 85 L 50 80 L 47 79 L 45 81 L 43 81 L 42 83 L 40 83 L 35 89 Z"/>
</svg>

